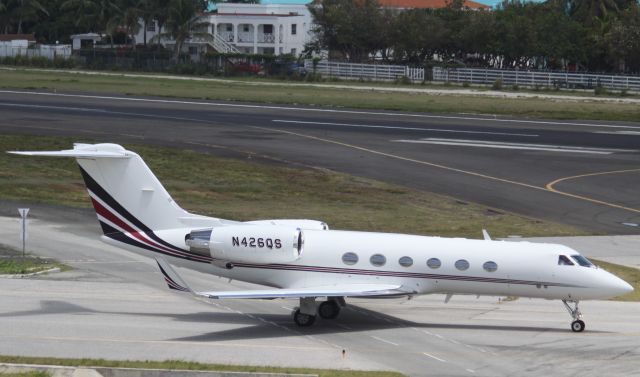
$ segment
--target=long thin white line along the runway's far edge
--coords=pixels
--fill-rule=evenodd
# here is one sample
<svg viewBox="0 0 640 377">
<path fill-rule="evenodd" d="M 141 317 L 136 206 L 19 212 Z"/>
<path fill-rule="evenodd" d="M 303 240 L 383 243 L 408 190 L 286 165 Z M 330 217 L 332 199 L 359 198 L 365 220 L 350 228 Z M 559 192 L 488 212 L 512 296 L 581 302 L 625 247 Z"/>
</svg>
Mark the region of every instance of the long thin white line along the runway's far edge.
<svg viewBox="0 0 640 377">
<path fill-rule="evenodd" d="M 67 98 L 91 98 L 91 99 L 127 101 L 127 102 L 171 103 L 171 104 L 182 104 L 182 105 L 201 105 L 201 106 L 228 107 L 228 108 L 266 109 L 266 110 L 281 110 L 281 111 L 282 110 L 289 110 L 289 111 L 315 112 L 315 113 L 333 113 L 333 114 L 379 115 L 379 116 L 389 116 L 389 117 L 402 116 L 402 117 L 423 118 L 423 119 L 473 120 L 473 121 L 478 121 L 478 122 L 501 122 L 501 123 L 520 123 L 520 124 L 539 124 L 539 125 L 558 125 L 558 126 L 581 126 L 581 127 L 600 127 L 600 128 L 621 128 L 621 129 L 625 129 L 626 128 L 626 129 L 640 130 L 640 127 L 614 125 L 614 124 L 554 122 L 554 121 L 527 120 L 527 119 L 496 119 L 496 118 L 482 118 L 482 117 L 458 116 L 458 115 L 429 115 L 429 114 L 411 114 L 411 113 L 386 113 L 386 112 L 381 112 L 381 111 L 337 110 L 337 109 L 320 109 L 320 108 L 309 108 L 309 107 L 298 108 L 298 107 L 273 106 L 273 105 L 247 105 L 247 104 L 239 104 L 239 103 L 217 103 L 217 102 L 181 101 L 181 100 L 135 98 L 135 97 L 96 96 L 96 95 L 84 95 L 84 94 L 62 94 L 62 93 L 47 93 L 47 92 L 28 92 L 28 91 L 19 91 L 19 90 L 0 90 L 0 93 L 25 94 L 25 95 L 37 95 L 37 96 L 51 96 L 51 97 L 67 97 Z"/>
</svg>

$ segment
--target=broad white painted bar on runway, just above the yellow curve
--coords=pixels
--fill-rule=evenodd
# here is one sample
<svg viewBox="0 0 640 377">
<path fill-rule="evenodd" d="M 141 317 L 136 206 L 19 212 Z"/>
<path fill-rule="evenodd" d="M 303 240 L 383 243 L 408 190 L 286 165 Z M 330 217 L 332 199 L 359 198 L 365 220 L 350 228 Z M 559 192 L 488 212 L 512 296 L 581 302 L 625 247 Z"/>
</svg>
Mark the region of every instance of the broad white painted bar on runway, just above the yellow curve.
<svg viewBox="0 0 640 377">
<path fill-rule="evenodd" d="M 610 149 L 610 148 L 586 148 L 572 147 L 566 145 L 549 145 L 549 144 L 526 144 L 526 143 L 506 143 L 500 141 L 483 141 L 483 140 L 462 140 L 462 139 L 439 139 L 425 138 L 418 140 L 391 140 L 396 143 L 413 143 L 413 144 L 436 144 L 451 145 L 458 147 L 476 147 L 476 148 L 495 148 L 495 149 L 517 149 L 530 151 L 547 151 L 560 153 L 586 153 L 586 154 L 612 154 L 616 152 L 637 152 L 633 149 Z"/>
</svg>

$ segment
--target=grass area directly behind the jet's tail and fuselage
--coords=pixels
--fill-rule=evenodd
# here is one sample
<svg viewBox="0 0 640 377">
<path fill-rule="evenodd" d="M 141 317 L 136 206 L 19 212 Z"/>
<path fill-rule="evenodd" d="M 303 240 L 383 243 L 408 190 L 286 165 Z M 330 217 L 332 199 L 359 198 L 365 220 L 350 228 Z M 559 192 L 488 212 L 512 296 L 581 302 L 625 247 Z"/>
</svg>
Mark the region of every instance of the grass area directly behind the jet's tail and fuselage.
<svg viewBox="0 0 640 377">
<path fill-rule="evenodd" d="M 0 151 L 69 149 L 74 141 L 91 142 L 0 135 Z M 570 226 L 326 169 L 291 168 L 157 146 L 126 147 L 145 159 L 183 208 L 208 216 L 318 219 L 333 229 L 470 238 L 481 238 L 483 228 L 494 237 L 585 234 Z M 1 153 L 0 198 L 90 207 L 72 159 Z"/>
</svg>

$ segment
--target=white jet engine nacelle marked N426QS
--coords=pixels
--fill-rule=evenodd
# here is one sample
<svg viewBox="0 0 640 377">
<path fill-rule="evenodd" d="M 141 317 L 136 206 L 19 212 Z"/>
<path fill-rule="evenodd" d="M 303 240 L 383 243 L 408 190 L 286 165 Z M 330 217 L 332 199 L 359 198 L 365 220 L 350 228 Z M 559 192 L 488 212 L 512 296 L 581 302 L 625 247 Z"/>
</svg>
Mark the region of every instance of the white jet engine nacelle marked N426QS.
<svg viewBox="0 0 640 377">
<path fill-rule="evenodd" d="M 274 225 L 232 225 L 194 230 L 185 237 L 191 252 L 208 254 L 214 263 L 290 263 L 298 260 L 304 233 L 298 228 Z"/>
</svg>

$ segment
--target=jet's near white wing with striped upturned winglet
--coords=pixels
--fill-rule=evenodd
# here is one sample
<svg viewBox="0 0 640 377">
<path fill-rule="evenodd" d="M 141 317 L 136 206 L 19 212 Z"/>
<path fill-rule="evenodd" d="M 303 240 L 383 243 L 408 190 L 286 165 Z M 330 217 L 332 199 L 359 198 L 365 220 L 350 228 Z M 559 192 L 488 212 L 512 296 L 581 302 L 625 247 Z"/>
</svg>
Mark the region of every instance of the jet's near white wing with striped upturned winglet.
<svg viewBox="0 0 640 377">
<path fill-rule="evenodd" d="M 211 299 L 274 299 L 300 297 L 400 297 L 416 292 L 403 289 L 398 284 L 339 284 L 304 288 L 256 289 L 251 291 L 196 292 L 161 258 L 156 258 L 160 272 L 170 289 L 189 292 Z"/>
</svg>

